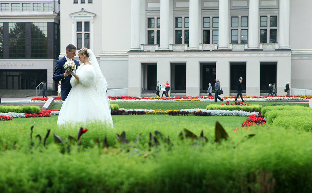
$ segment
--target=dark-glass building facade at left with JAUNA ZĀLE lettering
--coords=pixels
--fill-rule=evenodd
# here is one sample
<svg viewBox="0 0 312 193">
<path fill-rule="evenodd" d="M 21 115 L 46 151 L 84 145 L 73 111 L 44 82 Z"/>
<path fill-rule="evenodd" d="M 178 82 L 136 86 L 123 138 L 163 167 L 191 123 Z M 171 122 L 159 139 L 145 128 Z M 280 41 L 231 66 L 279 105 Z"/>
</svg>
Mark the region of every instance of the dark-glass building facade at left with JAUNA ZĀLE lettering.
<svg viewBox="0 0 312 193">
<path fill-rule="evenodd" d="M 59 1 L 0 0 L 0 89 L 55 90 L 60 53 Z"/>
</svg>

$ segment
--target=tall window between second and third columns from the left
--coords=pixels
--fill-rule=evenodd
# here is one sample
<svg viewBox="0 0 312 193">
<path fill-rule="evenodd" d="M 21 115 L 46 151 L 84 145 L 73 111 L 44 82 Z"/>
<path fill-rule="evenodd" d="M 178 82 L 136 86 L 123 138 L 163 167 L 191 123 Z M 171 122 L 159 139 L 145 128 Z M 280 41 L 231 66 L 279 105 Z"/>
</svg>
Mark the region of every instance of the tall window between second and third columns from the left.
<svg viewBox="0 0 312 193">
<path fill-rule="evenodd" d="M 176 17 L 175 18 L 175 44 L 188 44 L 188 17 Z"/>
</svg>

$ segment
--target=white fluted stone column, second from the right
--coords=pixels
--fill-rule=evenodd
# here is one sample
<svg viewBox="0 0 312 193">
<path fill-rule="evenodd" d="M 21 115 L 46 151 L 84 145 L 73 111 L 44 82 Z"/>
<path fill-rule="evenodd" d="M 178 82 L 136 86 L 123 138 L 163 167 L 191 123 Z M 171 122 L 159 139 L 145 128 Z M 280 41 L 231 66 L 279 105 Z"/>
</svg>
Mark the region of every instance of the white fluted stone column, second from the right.
<svg viewBox="0 0 312 193">
<path fill-rule="evenodd" d="M 259 0 L 249 1 L 248 49 L 259 49 Z"/>
</svg>

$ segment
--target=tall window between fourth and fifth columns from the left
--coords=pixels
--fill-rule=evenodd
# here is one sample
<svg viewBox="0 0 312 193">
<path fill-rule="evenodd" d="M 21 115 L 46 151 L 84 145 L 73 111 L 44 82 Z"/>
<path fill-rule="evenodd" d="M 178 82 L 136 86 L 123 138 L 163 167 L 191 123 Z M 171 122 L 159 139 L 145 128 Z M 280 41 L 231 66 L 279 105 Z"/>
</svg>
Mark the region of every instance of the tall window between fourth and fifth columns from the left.
<svg viewBox="0 0 312 193">
<path fill-rule="evenodd" d="M 248 17 L 231 17 L 231 44 L 247 44 L 248 35 Z"/>
</svg>

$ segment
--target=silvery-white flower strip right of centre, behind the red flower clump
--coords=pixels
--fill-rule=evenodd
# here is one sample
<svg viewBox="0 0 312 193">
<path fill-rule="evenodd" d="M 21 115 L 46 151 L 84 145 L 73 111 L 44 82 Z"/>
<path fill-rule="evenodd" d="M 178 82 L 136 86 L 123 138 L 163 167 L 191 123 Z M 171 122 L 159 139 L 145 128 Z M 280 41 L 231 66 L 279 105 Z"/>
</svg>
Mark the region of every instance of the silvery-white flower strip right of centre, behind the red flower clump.
<svg viewBox="0 0 312 193">
<path fill-rule="evenodd" d="M 181 109 L 180 111 L 202 111 L 210 113 L 211 116 L 249 116 L 258 115 L 257 112 L 246 112 L 246 111 L 229 111 L 229 110 L 206 110 L 206 109 Z"/>
</svg>

